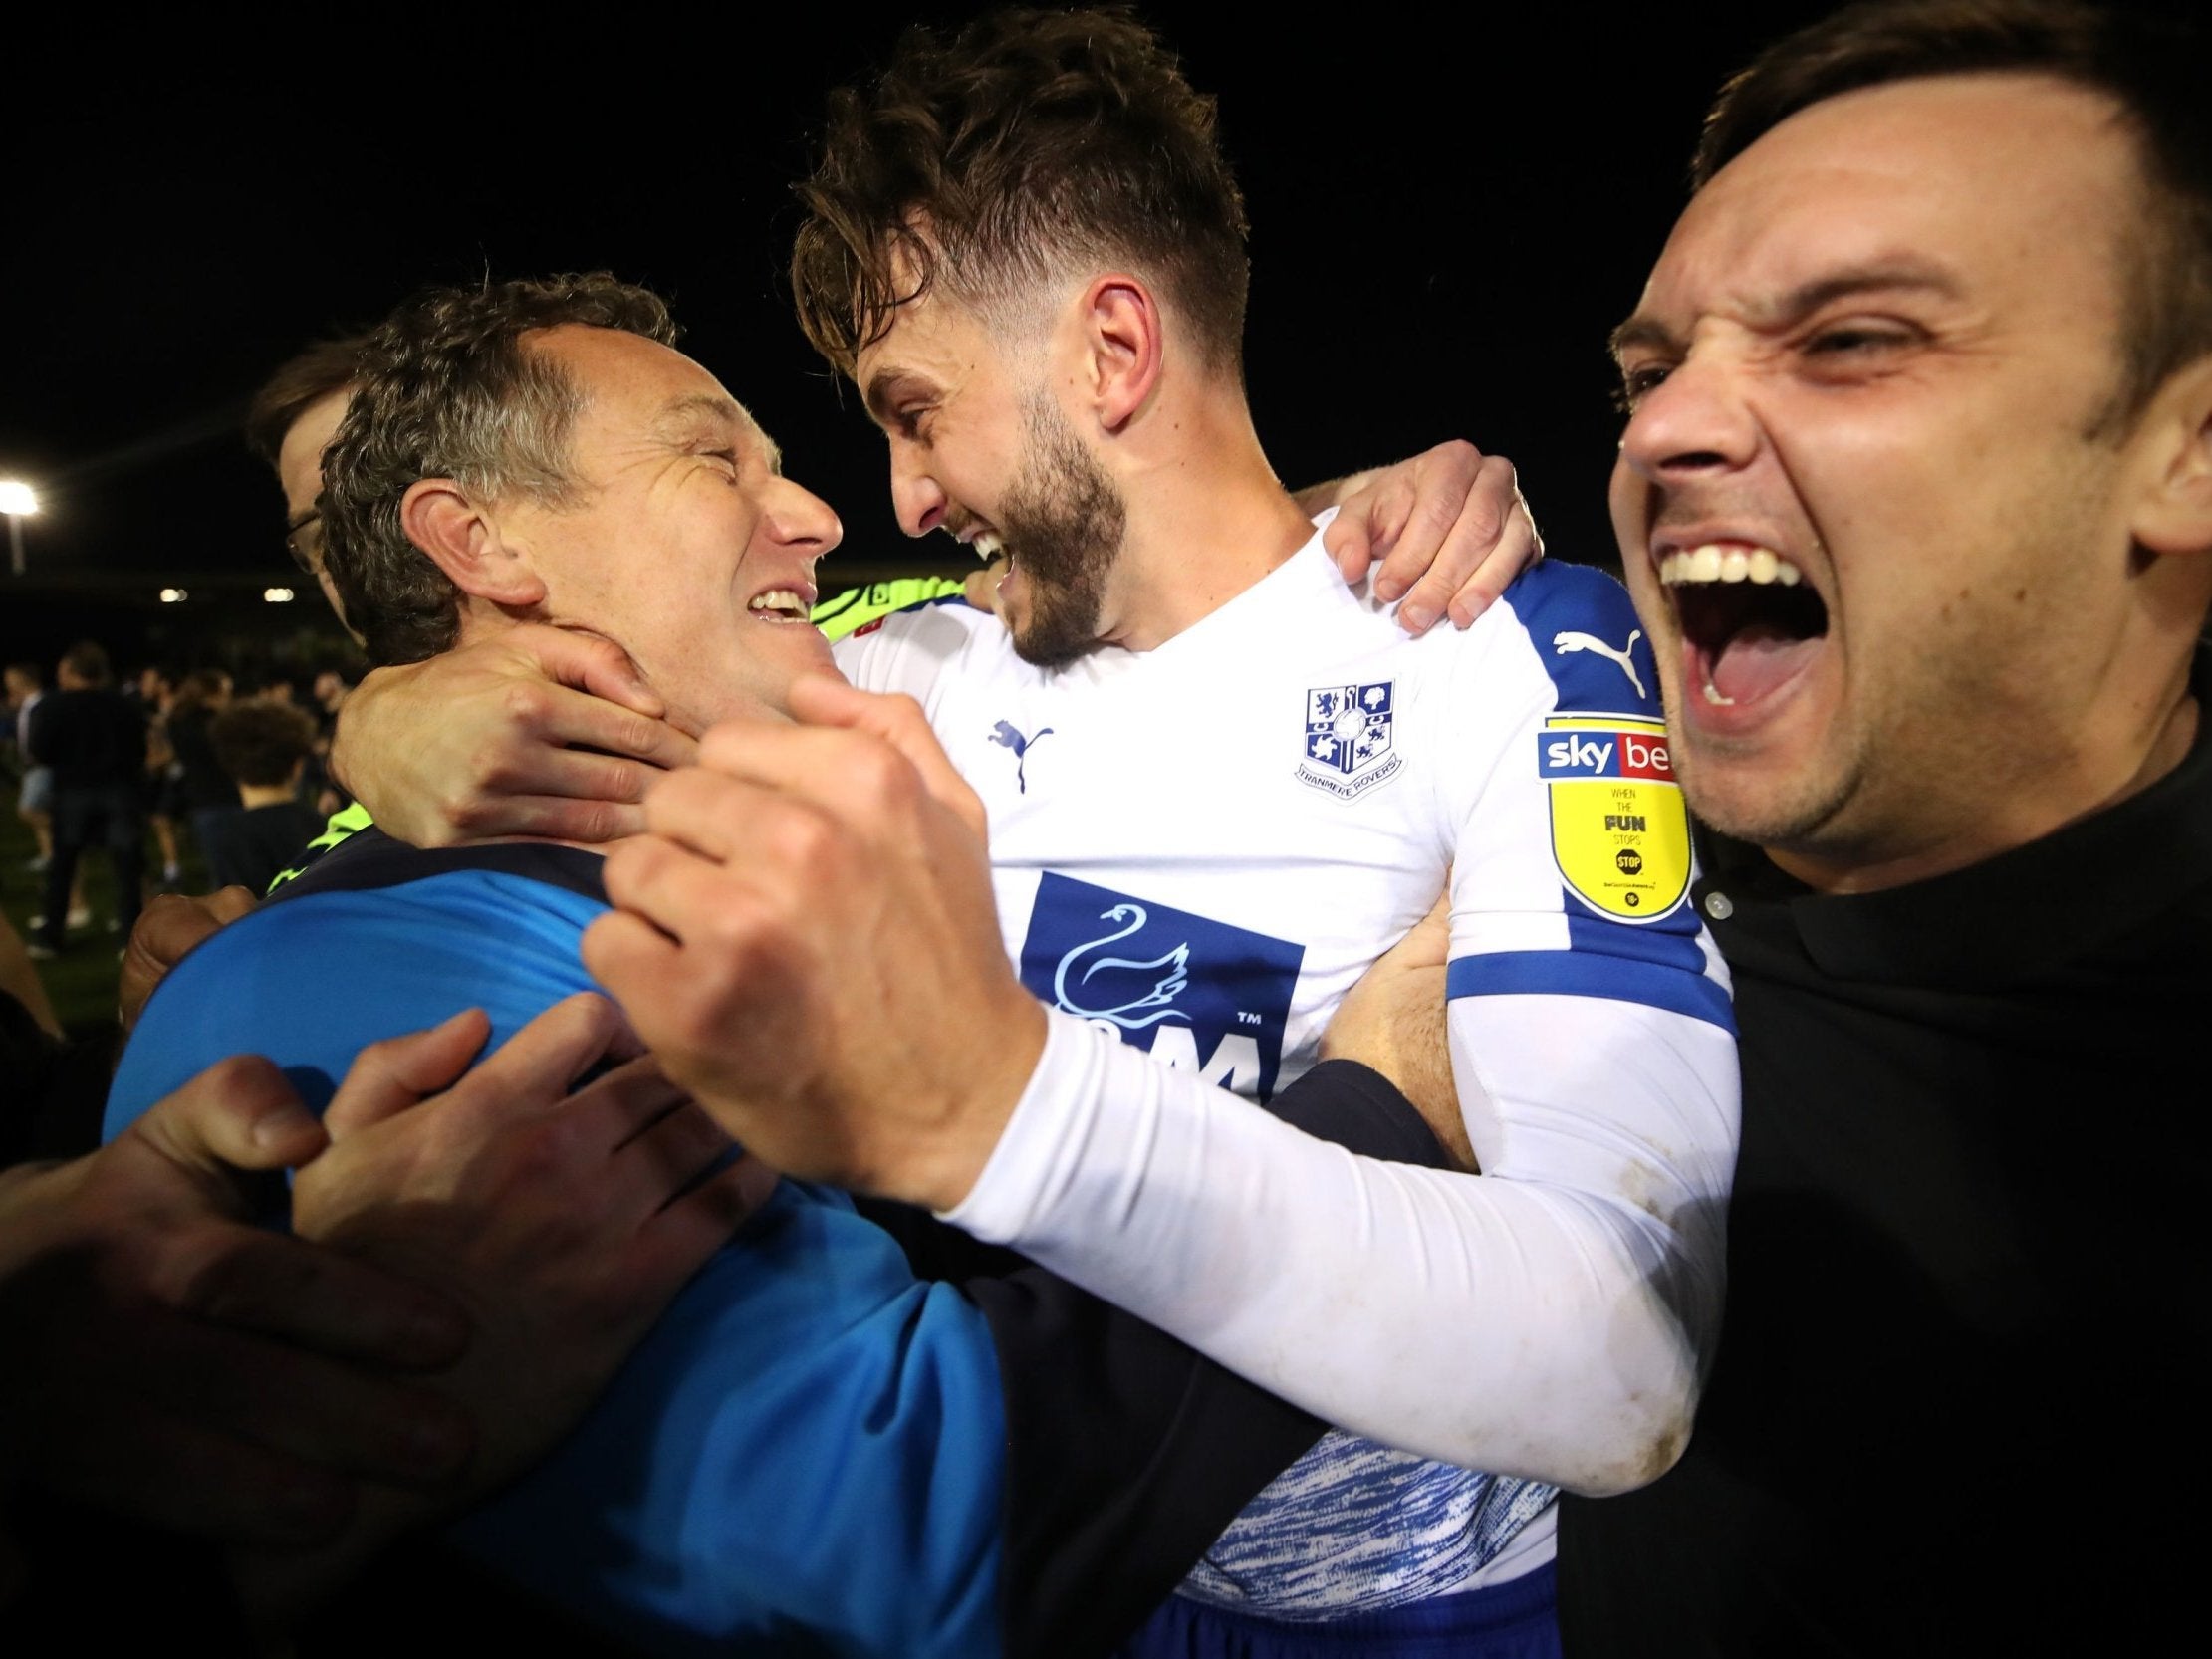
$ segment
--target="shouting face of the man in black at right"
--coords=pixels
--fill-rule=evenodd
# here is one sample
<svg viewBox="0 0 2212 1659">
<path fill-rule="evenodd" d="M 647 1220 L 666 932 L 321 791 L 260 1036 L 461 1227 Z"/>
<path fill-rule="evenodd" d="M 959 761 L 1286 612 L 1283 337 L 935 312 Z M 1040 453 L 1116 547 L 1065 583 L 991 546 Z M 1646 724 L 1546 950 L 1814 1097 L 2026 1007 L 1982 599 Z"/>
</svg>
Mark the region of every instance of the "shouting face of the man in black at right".
<svg viewBox="0 0 2212 1659">
<path fill-rule="evenodd" d="M 2128 606 L 2112 106 L 2033 75 L 1790 117 L 1617 332 L 1613 520 L 1719 830 L 1896 860 L 2068 763 Z"/>
</svg>

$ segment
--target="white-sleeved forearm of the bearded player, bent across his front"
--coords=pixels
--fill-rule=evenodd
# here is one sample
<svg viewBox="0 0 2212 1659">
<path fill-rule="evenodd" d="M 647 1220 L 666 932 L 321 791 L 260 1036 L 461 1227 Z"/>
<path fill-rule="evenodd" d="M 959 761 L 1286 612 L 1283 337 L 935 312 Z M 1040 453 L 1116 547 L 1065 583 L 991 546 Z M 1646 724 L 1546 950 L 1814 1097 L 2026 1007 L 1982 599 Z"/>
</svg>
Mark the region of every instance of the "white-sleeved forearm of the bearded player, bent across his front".
<svg viewBox="0 0 2212 1659">
<path fill-rule="evenodd" d="M 1721 1194 L 1663 1192 L 1652 1214 L 1606 1183 L 1520 1179 L 1513 1150 L 1486 1177 L 1358 1159 L 1055 1020 L 951 1219 L 1354 1433 L 1641 1484 L 1681 1447 L 1705 1325 L 1659 1287 L 1717 1287 Z"/>
</svg>

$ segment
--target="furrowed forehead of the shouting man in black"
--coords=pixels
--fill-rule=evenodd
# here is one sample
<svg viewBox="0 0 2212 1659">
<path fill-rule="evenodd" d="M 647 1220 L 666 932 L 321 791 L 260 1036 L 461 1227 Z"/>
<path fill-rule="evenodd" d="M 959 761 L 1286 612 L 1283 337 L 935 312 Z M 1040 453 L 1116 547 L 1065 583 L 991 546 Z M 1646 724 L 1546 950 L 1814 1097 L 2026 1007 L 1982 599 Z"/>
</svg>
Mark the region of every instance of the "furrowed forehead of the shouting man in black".
<svg viewBox="0 0 2212 1659">
<path fill-rule="evenodd" d="M 1674 226 L 1646 307 L 1752 303 L 1860 265 L 2117 307 L 2139 201 L 2135 144 L 2099 93 L 2022 73 L 1869 86 L 1721 168 Z"/>
</svg>

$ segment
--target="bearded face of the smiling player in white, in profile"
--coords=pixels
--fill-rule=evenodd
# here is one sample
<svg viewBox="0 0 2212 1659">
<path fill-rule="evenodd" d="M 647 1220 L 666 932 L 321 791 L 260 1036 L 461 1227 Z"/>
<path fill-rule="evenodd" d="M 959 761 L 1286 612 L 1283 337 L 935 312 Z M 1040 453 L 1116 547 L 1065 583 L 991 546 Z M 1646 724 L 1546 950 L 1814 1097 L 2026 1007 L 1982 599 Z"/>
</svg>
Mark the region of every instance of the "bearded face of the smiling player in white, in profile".
<svg viewBox="0 0 2212 1659">
<path fill-rule="evenodd" d="M 1117 615 L 1128 511 L 1053 400 L 1042 347 L 1006 349 L 967 305 L 929 292 L 898 307 L 854 378 L 891 445 L 900 529 L 1009 557 L 998 611 L 1024 659 L 1093 650 Z"/>
</svg>

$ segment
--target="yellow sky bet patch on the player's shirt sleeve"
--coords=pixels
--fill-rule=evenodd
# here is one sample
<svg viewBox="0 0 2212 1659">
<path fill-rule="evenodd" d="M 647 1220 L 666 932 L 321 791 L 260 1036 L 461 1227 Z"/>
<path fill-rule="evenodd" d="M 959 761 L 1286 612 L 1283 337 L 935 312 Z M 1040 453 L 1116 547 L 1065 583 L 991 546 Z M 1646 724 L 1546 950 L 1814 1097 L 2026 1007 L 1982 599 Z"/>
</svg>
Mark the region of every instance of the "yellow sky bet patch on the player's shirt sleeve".
<svg viewBox="0 0 2212 1659">
<path fill-rule="evenodd" d="M 1619 922 L 1657 922 L 1690 891 L 1690 814 L 1666 726 L 1557 714 L 1535 734 L 1551 854 L 1568 889 Z"/>
</svg>

